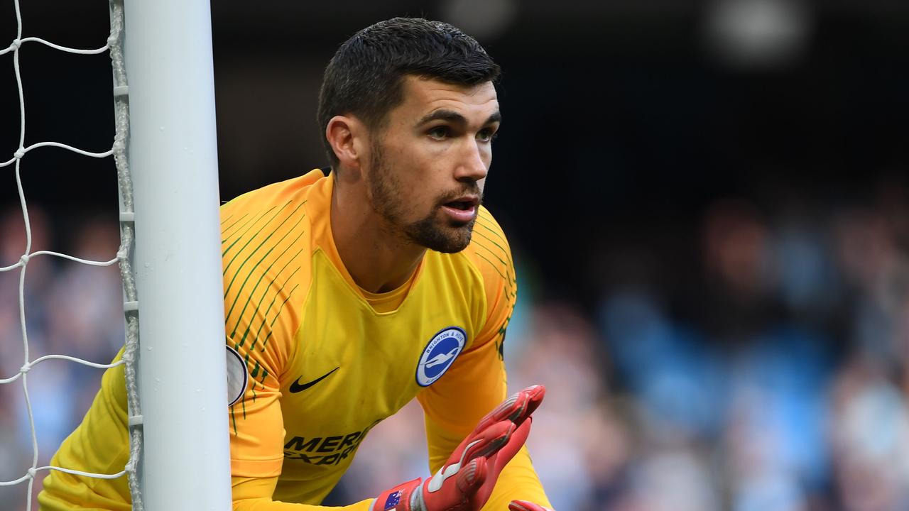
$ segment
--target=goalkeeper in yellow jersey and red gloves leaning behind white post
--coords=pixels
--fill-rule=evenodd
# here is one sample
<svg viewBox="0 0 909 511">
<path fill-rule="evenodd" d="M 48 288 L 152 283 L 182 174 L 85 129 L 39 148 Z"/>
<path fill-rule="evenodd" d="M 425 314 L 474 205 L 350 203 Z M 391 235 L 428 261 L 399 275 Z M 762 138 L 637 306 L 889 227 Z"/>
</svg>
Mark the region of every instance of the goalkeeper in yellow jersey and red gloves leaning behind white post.
<svg viewBox="0 0 909 511">
<path fill-rule="evenodd" d="M 248 377 L 230 406 L 235 510 L 323 508 L 369 429 L 414 397 L 437 473 L 344 509 L 550 506 L 523 448 L 544 389 L 502 402 L 514 266 L 480 205 L 498 72 L 451 25 L 369 26 L 325 70 L 332 172 L 222 207 L 227 346 Z M 117 367 L 53 463 L 123 466 L 123 395 Z M 86 452 L 98 437 L 119 442 Z M 129 494 L 123 478 L 52 472 L 39 501 L 126 509 Z"/>
</svg>

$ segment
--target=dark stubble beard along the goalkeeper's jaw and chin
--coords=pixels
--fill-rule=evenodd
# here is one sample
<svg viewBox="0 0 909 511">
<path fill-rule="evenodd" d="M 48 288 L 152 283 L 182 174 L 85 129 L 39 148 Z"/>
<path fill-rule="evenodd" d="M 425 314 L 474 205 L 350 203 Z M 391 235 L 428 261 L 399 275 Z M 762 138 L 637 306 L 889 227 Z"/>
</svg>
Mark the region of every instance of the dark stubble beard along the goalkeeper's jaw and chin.
<svg viewBox="0 0 909 511">
<path fill-rule="evenodd" d="M 375 213 L 383 218 L 392 235 L 396 235 L 406 242 L 446 254 L 460 252 L 470 244 L 475 218 L 466 224 L 441 225 L 437 215 L 439 206 L 447 202 L 445 200 L 436 202 L 436 205 L 424 218 L 406 223 L 403 220 L 407 201 L 404 185 L 387 165 L 380 144 L 373 145 L 372 153 L 370 165 L 373 167 L 373 171 L 367 182 L 369 200 Z"/>
</svg>

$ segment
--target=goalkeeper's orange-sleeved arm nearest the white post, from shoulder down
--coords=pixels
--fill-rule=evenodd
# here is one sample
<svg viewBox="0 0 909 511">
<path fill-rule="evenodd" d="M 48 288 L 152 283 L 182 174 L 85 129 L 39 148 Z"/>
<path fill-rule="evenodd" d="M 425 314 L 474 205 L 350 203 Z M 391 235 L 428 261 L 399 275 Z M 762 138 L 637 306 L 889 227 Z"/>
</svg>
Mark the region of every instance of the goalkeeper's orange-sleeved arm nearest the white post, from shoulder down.
<svg viewBox="0 0 909 511">
<path fill-rule="evenodd" d="M 221 208 L 225 340 L 239 354 L 237 373 L 248 376 L 228 411 L 235 509 L 272 508 L 284 465 L 280 376 L 294 353 L 297 311 L 311 280 L 300 239 L 305 184 L 269 185 Z"/>
</svg>

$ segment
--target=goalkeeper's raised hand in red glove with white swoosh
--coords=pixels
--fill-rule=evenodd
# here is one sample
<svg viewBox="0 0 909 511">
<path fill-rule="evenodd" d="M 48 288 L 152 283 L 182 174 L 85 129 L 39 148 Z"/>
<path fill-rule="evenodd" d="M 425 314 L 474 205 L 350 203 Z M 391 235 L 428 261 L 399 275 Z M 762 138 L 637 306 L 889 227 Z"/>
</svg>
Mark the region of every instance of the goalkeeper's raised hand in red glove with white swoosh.
<svg viewBox="0 0 909 511">
<path fill-rule="evenodd" d="M 506 399 L 480 419 L 435 476 L 395 486 L 375 499 L 371 511 L 479 511 L 493 493 L 499 473 L 524 446 L 530 415 L 545 392 L 544 386 L 530 386 Z M 514 505 L 524 504 L 514 501 L 509 508 L 522 509 Z"/>
</svg>

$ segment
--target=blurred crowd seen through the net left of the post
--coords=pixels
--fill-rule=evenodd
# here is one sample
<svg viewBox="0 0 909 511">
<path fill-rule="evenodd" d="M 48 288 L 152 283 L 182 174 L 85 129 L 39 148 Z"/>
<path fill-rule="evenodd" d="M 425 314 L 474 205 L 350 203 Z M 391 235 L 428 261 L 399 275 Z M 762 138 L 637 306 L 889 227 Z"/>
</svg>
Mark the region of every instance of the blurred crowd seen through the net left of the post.
<svg viewBox="0 0 909 511">
<path fill-rule="evenodd" d="M 50 215 L 29 206 L 31 252 L 52 250 L 107 261 L 120 235 L 115 215 Z M 0 267 L 25 254 L 25 222 L 18 205 L 0 212 Z M 0 378 L 25 364 L 20 319 L 21 269 L 0 273 Z M 28 359 L 68 355 L 107 364 L 124 343 L 123 289 L 116 266 L 86 266 L 51 255 L 35 255 L 25 268 L 24 305 Z M 0 385 L 0 481 L 49 465 L 60 443 L 82 420 L 101 384 L 101 369 L 49 360 L 24 377 Z M 24 384 L 29 400 L 25 400 Z M 28 407 L 35 419 L 33 427 Z M 46 472 L 36 476 L 35 495 Z M 0 510 L 25 509 L 25 483 L 0 486 Z M 33 499 L 37 509 L 36 501 Z"/>
</svg>

